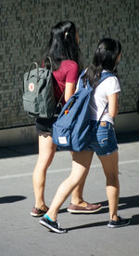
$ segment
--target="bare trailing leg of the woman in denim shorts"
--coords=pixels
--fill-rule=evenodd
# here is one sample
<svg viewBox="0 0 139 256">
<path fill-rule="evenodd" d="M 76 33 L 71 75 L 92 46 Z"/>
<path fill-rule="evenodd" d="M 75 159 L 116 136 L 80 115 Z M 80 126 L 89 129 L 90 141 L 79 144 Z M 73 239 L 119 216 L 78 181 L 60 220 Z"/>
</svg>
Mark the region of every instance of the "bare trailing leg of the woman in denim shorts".
<svg viewBox="0 0 139 256">
<path fill-rule="evenodd" d="M 88 169 L 90 168 L 93 152 L 82 151 L 80 153 L 73 153 L 72 171 L 69 177 L 62 182 L 55 195 L 50 209 L 47 211 L 48 216 L 53 220 L 57 220 L 57 212 L 63 202 L 67 199 L 72 190 L 82 183 L 82 179 L 86 177 Z"/>
</svg>

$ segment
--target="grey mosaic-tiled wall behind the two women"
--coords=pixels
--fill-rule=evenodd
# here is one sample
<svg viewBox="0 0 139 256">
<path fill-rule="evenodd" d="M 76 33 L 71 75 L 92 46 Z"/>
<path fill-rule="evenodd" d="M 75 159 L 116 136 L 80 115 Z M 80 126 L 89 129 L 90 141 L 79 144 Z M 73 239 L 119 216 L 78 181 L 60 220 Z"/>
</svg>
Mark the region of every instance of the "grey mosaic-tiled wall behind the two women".
<svg viewBox="0 0 139 256">
<path fill-rule="evenodd" d="M 22 107 L 22 77 L 32 61 L 40 61 L 51 27 L 59 20 L 75 22 L 84 66 L 104 36 L 120 39 L 120 113 L 136 111 L 139 97 L 138 0 L 1 0 L 0 128 L 31 125 Z"/>
</svg>

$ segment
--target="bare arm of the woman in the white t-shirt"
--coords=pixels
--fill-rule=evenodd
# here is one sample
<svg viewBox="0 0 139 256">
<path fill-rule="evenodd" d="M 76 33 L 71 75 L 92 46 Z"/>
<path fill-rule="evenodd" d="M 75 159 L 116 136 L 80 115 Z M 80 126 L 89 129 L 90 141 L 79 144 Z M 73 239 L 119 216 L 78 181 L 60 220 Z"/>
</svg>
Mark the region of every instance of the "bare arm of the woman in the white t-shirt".
<svg viewBox="0 0 139 256">
<path fill-rule="evenodd" d="M 115 117 L 119 113 L 119 93 L 114 93 L 107 96 L 108 99 L 108 114 Z"/>
</svg>

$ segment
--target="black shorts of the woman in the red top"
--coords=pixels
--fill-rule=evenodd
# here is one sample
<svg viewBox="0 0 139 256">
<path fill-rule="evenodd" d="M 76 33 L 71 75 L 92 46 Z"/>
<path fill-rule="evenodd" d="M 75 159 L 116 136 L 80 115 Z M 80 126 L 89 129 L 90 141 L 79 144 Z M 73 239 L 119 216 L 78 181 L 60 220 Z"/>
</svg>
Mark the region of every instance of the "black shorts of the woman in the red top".
<svg viewBox="0 0 139 256">
<path fill-rule="evenodd" d="M 50 133 L 52 135 L 52 126 L 57 121 L 57 116 L 52 118 L 37 118 L 36 119 L 36 131 L 38 135 L 44 133 Z"/>
</svg>

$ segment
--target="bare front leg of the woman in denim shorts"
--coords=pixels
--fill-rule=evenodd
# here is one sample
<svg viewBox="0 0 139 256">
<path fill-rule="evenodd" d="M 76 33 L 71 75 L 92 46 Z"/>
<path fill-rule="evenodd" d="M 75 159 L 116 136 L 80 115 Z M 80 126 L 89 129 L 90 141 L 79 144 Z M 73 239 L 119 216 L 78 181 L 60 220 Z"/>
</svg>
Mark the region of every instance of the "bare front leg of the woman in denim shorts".
<svg viewBox="0 0 139 256">
<path fill-rule="evenodd" d="M 119 205 L 119 155 L 115 151 L 111 155 L 99 156 L 107 178 L 107 199 L 109 205 L 110 220 L 117 221 L 118 205 Z"/>
</svg>

